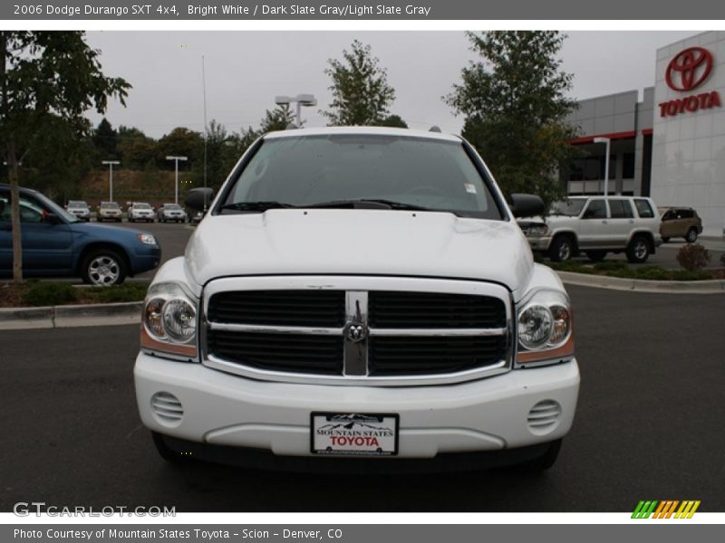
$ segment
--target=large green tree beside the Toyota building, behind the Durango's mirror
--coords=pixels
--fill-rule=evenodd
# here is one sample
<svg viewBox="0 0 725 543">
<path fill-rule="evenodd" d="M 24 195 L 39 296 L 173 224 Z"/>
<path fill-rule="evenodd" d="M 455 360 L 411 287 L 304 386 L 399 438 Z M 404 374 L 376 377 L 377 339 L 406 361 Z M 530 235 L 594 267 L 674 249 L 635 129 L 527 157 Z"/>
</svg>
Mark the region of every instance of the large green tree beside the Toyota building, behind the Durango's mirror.
<svg viewBox="0 0 725 543">
<path fill-rule="evenodd" d="M 553 32 L 467 33 L 483 62 L 464 68 L 444 100 L 466 117 L 463 137 L 478 149 L 507 194 L 529 192 L 549 204 L 563 193 L 557 168 L 575 155 L 566 122 L 575 100 L 572 76 L 556 55 L 565 35 Z"/>
</svg>

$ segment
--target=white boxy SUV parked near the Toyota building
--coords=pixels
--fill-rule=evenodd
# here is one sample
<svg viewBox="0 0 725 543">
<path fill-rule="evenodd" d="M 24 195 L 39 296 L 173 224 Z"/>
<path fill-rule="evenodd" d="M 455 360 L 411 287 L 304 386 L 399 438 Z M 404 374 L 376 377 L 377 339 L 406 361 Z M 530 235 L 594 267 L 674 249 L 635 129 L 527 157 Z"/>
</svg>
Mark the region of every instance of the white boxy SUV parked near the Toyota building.
<svg viewBox="0 0 725 543">
<path fill-rule="evenodd" d="M 660 217 L 652 199 L 633 196 L 572 196 L 548 216 L 519 219 L 531 250 L 562 262 L 584 251 L 594 262 L 607 252 L 625 252 L 646 262 L 662 244 Z"/>
</svg>

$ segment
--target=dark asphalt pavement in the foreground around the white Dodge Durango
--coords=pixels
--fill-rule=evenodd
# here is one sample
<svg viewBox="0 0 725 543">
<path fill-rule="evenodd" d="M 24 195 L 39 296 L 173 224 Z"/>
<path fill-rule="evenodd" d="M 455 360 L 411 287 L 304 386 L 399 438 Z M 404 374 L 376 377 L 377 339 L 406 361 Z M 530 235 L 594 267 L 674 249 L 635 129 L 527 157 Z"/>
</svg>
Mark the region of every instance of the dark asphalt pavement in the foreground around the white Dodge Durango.
<svg viewBox="0 0 725 543">
<path fill-rule="evenodd" d="M 558 462 L 538 476 L 175 468 L 160 460 L 136 411 L 136 326 L 0 331 L 0 510 L 45 501 L 178 511 L 625 512 L 647 499 L 725 511 L 722 296 L 569 291 L 579 405 Z"/>
</svg>

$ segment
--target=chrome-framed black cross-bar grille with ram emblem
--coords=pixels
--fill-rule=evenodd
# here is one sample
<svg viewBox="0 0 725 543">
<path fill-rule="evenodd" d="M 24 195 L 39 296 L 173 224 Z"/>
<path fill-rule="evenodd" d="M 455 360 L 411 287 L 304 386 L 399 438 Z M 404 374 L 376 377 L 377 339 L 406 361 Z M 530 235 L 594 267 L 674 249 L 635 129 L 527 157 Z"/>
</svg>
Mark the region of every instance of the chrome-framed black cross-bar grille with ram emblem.
<svg viewBox="0 0 725 543">
<path fill-rule="evenodd" d="M 362 278 L 422 282 L 430 291 L 356 290 L 356 278 L 325 278 L 324 287 L 285 280 L 306 290 L 237 287 L 272 281 L 212 283 L 202 334 L 206 365 L 261 379 L 376 386 L 459 382 L 510 367 L 510 299 L 497 285 Z M 434 291 L 441 282 L 476 294 Z"/>
</svg>

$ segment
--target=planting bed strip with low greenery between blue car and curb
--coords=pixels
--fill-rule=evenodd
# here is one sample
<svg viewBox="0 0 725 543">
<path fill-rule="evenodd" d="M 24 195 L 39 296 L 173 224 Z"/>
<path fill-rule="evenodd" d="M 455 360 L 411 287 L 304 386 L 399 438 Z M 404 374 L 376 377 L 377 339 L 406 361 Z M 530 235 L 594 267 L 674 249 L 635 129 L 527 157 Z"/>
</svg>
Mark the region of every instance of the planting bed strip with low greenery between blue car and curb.
<svg viewBox="0 0 725 543">
<path fill-rule="evenodd" d="M 146 281 L 89 288 L 60 281 L 24 281 L 20 285 L 8 282 L 0 285 L 0 308 L 141 301 L 148 288 Z"/>
</svg>

